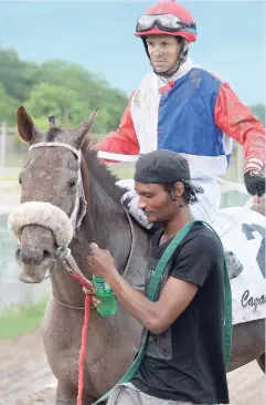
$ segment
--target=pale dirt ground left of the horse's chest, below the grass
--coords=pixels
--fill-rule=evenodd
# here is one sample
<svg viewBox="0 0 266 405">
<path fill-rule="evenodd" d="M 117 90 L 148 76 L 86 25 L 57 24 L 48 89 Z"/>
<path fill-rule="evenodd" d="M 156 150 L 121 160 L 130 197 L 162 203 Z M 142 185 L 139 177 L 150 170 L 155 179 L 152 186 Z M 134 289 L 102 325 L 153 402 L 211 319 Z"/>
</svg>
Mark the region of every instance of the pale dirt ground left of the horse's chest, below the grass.
<svg viewBox="0 0 266 405">
<path fill-rule="evenodd" d="M 0 341 L 0 405 L 52 405 L 54 383 L 39 331 Z"/>
</svg>

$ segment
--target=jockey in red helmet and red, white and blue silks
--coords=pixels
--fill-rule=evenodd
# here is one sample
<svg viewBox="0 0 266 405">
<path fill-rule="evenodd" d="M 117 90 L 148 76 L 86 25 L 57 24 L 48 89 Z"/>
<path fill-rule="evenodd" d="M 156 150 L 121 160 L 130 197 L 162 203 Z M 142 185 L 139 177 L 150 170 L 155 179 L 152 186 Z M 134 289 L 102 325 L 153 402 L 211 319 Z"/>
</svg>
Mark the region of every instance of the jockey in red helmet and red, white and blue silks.
<svg viewBox="0 0 266 405">
<path fill-rule="evenodd" d="M 246 189 L 263 196 L 265 128 L 228 83 L 188 56 L 198 35 L 190 11 L 174 0 L 159 1 L 138 19 L 135 35 L 142 40 L 152 72 L 132 93 L 119 128 L 94 145 L 98 156 L 114 162 L 119 157 L 108 153 L 183 154 L 191 177 L 204 189 L 192 212 L 212 222 L 221 198 L 216 176 L 226 173 L 235 139 L 244 146 Z"/>
</svg>

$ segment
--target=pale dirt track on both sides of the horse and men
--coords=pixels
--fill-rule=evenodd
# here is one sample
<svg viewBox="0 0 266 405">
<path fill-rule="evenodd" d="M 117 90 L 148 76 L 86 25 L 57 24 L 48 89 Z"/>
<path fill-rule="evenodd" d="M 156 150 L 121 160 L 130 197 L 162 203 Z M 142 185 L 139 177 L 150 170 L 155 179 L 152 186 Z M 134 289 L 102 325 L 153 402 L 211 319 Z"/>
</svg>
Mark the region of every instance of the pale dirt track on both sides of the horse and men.
<svg viewBox="0 0 266 405">
<path fill-rule="evenodd" d="M 53 405 L 54 383 L 40 332 L 0 342 L 0 405 Z M 264 405 L 265 377 L 253 362 L 228 374 L 231 404 Z"/>
</svg>

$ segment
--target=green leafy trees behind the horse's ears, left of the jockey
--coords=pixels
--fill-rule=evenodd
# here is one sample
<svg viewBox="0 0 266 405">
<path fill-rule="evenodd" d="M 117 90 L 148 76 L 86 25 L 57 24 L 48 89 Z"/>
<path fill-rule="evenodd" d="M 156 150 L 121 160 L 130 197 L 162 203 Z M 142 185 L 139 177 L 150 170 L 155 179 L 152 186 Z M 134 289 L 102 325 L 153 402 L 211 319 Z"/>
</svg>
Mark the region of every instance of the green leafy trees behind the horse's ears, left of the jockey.
<svg viewBox="0 0 266 405">
<path fill-rule="evenodd" d="M 57 123 L 76 125 L 98 106 L 92 131 L 106 134 L 118 127 L 127 96 L 77 64 L 61 60 L 30 63 L 12 49 L 0 49 L 0 122 L 14 126 L 21 104 L 42 129 L 47 127 L 49 114 Z"/>
</svg>

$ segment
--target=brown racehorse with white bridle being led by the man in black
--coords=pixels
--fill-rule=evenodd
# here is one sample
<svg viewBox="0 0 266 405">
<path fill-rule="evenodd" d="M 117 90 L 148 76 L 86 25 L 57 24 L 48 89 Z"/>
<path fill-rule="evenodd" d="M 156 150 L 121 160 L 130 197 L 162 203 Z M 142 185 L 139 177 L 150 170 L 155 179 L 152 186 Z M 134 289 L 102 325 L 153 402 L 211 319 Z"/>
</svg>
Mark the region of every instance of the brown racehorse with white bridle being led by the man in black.
<svg viewBox="0 0 266 405">
<path fill-rule="evenodd" d="M 17 127 L 30 146 L 21 170 L 21 205 L 45 202 L 63 210 L 72 220 L 71 251 L 81 271 L 87 269 L 89 243 L 108 249 L 117 269 L 132 285 L 145 280 L 150 232 L 130 219 L 120 204 L 126 191 L 117 177 L 86 148 L 94 114 L 75 128 L 52 125 L 41 132 L 21 106 Z M 31 212 L 25 212 L 26 215 Z M 41 212 L 41 216 L 46 212 Z M 258 214 L 259 215 L 259 214 Z M 57 241 L 43 219 L 42 225 L 26 224 L 21 230 L 15 252 L 22 282 L 42 282 L 49 272 L 52 294 L 42 321 L 42 339 L 50 367 L 57 380 L 56 405 L 74 405 L 78 386 L 78 352 L 84 321 L 84 293 L 62 262 L 56 259 Z M 56 226 L 56 218 L 53 219 Z M 91 309 L 85 360 L 83 404 L 89 405 L 111 388 L 123 376 L 139 349 L 142 326 L 118 302 L 115 315 L 103 318 Z M 264 368 L 264 320 L 235 324 L 232 355 L 227 371 L 258 360 Z"/>
</svg>

